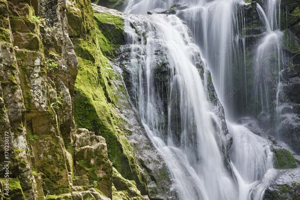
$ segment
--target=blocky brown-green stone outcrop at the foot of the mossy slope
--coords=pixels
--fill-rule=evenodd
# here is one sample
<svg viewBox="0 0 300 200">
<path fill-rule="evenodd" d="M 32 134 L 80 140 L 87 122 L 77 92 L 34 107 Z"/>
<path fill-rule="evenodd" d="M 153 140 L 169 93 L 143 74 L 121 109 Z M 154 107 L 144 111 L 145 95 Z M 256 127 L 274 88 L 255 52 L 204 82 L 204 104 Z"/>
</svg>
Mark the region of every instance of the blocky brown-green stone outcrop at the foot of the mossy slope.
<svg viewBox="0 0 300 200">
<path fill-rule="evenodd" d="M 112 199 L 112 163 L 108 160 L 105 139 L 87 129 L 73 135 L 75 170 L 82 182 L 94 184 Z M 85 179 L 85 180 L 83 180 Z M 79 180 L 76 180 L 80 183 Z M 80 185 L 80 184 L 79 184 Z"/>
</svg>

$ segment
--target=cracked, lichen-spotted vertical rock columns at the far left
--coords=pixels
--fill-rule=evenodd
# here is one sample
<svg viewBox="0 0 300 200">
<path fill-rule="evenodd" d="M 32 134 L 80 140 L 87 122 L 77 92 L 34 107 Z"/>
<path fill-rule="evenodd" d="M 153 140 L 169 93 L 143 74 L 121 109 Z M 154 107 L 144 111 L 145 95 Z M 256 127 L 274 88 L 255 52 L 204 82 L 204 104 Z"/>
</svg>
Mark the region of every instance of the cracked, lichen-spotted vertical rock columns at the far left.
<svg viewBox="0 0 300 200">
<path fill-rule="evenodd" d="M 64 2 L 54 8 L 57 24 L 53 29 L 35 15 L 35 3 L 1 1 L 0 130 L 3 138 L 4 131 L 9 133 L 9 176 L 20 185 L 16 190 L 21 190 L 15 194 L 26 199 L 43 199 L 43 189 L 52 194 L 70 192 L 68 173 L 72 171 L 63 139 L 71 134 L 72 116 L 60 120 L 63 115 L 58 110 L 66 111 L 67 105 L 72 110 L 72 89 L 65 88 L 74 85 L 78 63 L 65 30 L 66 16 L 58 10 L 65 7 Z M 62 78 L 50 78 L 58 72 L 65 77 L 63 84 Z M 64 98 L 59 99 L 62 93 Z M 66 124 L 68 129 L 63 128 Z M 4 143 L 0 146 L 4 155 Z"/>
</svg>

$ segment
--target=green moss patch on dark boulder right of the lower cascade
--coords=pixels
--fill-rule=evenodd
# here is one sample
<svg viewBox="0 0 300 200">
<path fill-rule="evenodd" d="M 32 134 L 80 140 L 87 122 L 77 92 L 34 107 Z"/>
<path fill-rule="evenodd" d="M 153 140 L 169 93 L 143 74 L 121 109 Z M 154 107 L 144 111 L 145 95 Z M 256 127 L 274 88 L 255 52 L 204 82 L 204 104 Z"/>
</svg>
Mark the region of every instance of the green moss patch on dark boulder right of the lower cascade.
<svg viewBox="0 0 300 200">
<path fill-rule="evenodd" d="M 274 153 L 274 168 L 275 169 L 292 169 L 297 168 L 298 164 L 295 161 L 295 158 L 286 149 L 272 149 Z"/>
</svg>

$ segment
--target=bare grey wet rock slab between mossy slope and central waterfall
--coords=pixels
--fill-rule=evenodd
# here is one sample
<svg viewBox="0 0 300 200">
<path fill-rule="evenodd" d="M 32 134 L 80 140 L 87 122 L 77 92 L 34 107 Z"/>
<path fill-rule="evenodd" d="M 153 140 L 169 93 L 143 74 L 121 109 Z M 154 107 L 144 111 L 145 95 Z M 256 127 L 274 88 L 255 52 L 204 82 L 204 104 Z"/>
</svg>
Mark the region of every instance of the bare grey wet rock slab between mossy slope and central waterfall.
<svg viewBox="0 0 300 200">
<path fill-rule="evenodd" d="M 112 66 L 116 74 L 122 73 L 118 66 L 114 64 Z M 123 85 L 124 83 L 115 82 L 115 84 Z M 132 107 L 126 93 L 117 91 L 117 94 L 119 95 L 119 103 L 117 104 L 119 109 L 117 112 L 124 121 L 126 137 L 135 152 L 141 178 L 147 182 L 149 197 L 176 200 L 175 186 L 171 181 L 169 169 L 152 145 L 137 110 Z"/>
</svg>

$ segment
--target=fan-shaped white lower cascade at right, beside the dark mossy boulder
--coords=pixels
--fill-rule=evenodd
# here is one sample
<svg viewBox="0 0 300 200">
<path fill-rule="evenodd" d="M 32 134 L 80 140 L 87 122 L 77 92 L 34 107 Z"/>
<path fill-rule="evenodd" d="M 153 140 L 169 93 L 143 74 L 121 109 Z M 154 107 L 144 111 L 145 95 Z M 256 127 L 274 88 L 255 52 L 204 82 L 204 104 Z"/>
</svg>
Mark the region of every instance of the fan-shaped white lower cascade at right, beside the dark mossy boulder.
<svg viewBox="0 0 300 200">
<path fill-rule="evenodd" d="M 238 199 L 261 200 L 276 170 L 273 169 L 273 153 L 268 142 L 243 125 L 228 123 L 233 143 L 230 159 L 238 180 Z"/>
</svg>

